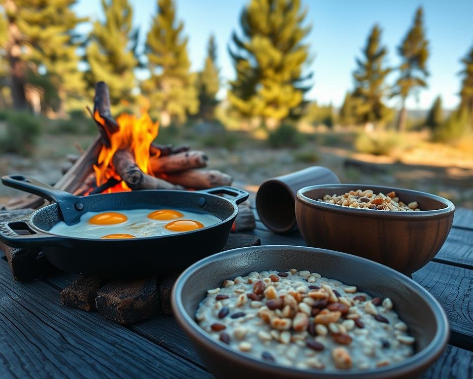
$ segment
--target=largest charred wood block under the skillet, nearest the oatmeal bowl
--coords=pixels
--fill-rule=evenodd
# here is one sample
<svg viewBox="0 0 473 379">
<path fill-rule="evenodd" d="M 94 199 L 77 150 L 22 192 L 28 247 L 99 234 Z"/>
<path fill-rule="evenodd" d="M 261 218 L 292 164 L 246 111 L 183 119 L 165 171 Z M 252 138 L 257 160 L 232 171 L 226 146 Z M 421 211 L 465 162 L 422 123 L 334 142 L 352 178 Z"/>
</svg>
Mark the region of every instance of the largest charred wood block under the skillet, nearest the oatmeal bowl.
<svg viewBox="0 0 473 379">
<path fill-rule="evenodd" d="M 146 320 L 159 310 L 157 279 L 107 283 L 98 291 L 96 305 L 102 316 L 119 324 Z"/>
</svg>

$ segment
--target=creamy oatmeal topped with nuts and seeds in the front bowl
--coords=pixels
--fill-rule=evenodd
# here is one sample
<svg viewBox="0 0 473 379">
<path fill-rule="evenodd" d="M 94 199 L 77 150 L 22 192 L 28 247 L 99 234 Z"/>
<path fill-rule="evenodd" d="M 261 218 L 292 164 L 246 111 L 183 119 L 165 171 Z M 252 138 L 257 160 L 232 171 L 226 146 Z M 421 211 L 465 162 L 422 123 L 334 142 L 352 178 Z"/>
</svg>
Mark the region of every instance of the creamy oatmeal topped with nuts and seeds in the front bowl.
<svg viewBox="0 0 473 379">
<path fill-rule="evenodd" d="M 368 370 L 401 362 L 415 339 L 389 298 L 315 272 L 250 272 L 207 291 L 196 319 L 220 343 L 298 369 Z"/>
</svg>

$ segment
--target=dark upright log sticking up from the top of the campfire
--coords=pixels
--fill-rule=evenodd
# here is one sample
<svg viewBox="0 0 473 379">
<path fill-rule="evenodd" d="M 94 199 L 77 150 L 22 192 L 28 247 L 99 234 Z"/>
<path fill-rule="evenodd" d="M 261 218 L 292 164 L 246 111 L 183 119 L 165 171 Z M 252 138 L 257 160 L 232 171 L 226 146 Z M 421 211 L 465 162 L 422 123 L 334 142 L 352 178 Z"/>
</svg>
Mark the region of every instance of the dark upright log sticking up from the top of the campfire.
<svg viewBox="0 0 473 379">
<path fill-rule="evenodd" d="M 103 123 L 95 119 L 96 112 L 102 118 Z M 99 127 L 102 143 L 106 147 L 110 147 L 110 134 L 117 132 L 119 126 L 110 113 L 110 94 L 108 86 L 103 81 L 99 81 L 95 85 L 93 118 Z"/>
</svg>

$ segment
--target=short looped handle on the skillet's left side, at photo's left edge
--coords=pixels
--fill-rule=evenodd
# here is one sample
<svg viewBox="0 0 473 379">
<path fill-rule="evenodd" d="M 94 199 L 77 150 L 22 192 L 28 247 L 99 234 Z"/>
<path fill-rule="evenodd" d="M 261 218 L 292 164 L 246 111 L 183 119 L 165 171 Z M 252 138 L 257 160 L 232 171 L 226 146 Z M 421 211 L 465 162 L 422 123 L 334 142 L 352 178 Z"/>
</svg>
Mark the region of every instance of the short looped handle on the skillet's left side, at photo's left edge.
<svg viewBox="0 0 473 379">
<path fill-rule="evenodd" d="M 16 230 L 25 230 L 28 234 L 19 234 Z M 33 230 L 27 219 L 12 219 L 0 223 L 0 240 L 10 247 L 37 248 L 52 245 L 57 237 Z"/>
</svg>

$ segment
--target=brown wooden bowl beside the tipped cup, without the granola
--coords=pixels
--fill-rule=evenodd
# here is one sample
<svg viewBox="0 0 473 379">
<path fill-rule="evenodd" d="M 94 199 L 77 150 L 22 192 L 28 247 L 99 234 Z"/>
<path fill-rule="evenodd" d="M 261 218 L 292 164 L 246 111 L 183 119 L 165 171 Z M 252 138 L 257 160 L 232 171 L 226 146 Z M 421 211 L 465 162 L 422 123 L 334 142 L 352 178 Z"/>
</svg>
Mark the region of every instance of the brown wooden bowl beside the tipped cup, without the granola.
<svg viewBox="0 0 473 379">
<path fill-rule="evenodd" d="M 420 212 L 365 210 L 318 201 L 326 194 L 372 189 L 396 191 Z M 304 187 L 296 195 L 299 230 L 308 246 L 343 251 L 368 258 L 410 275 L 439 252 L 452 227 L 455 206 L 430 193 L 381 186 L 338 184 Z"/>
</svg>

